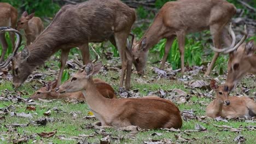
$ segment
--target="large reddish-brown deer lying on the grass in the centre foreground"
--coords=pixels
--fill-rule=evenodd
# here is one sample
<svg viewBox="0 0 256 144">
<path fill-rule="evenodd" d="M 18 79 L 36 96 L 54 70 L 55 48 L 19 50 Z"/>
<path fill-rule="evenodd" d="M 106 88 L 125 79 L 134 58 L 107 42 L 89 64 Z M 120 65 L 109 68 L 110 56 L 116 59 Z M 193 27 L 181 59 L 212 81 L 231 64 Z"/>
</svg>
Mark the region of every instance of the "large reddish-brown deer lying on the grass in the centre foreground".
<svg viewBox="0 0 256 144">
<path fill-rule="evenodd" d="M 56 88 L 56 91 L 86 93 L 84 95 L 87 104 L 95 117 L 100 120 L 101 125 L 113 127 L 137 125 L 145 129 L 182 127 L 179 109 L 169 100 L 157 97 L 104 98 L 92 80 L 92 75 L 97 74 L 101 67 L 102 63 L 84 65 L 82 70 Z"/>
</svg>

